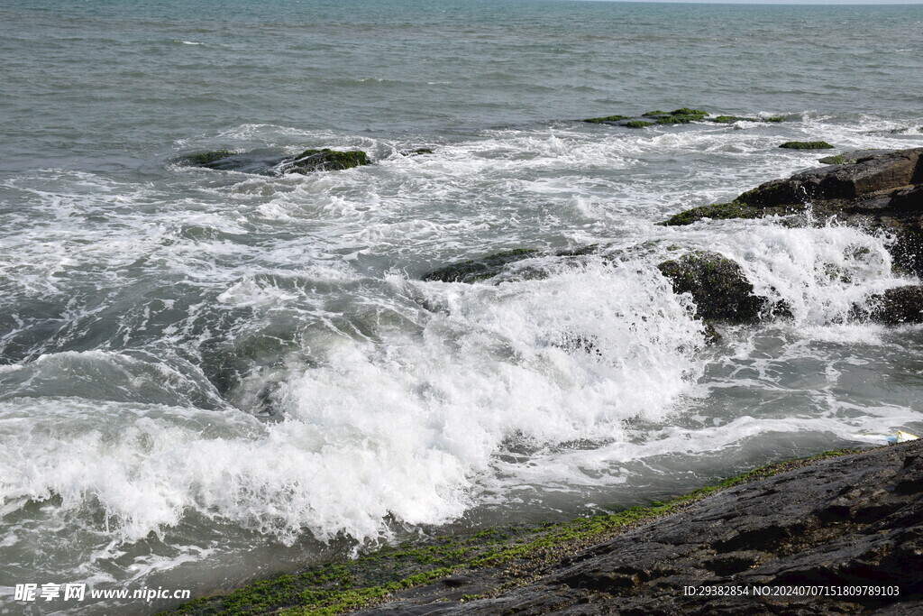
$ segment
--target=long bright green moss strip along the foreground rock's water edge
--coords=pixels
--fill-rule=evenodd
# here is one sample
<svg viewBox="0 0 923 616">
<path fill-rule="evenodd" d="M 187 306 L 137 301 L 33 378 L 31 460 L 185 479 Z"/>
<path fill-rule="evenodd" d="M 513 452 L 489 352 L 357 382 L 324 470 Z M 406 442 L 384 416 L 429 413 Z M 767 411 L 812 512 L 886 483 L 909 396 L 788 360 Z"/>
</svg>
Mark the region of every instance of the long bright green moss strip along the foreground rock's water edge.
<svg viewBox="0 0 923 616">
<path fill-rule="evenodd" d="M 631 507 L 564 523 L 508 526 L 462 537 L 438 537 L 424 545 L 385 548 L 354 561 L 331 562 L 295 574 L 255 582 L 227 595 L 198 598 L 163 614 L 243 616 L 277 613 L 331 616 L 374 605 L 407 588 L 426 586 L 464 570 L 490 572 L 494 590 L 467 595 L 471 600 L 520 586 L 569 556 L 656 518 L 678 513 L 722 489 L 771 477 L 810 462 L 856 451 L 821 453 L 810 458 L 761 466 L 737 477 L 667 502 Z"/>
</svg>

